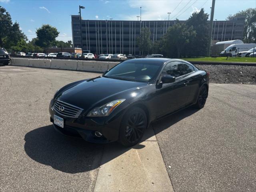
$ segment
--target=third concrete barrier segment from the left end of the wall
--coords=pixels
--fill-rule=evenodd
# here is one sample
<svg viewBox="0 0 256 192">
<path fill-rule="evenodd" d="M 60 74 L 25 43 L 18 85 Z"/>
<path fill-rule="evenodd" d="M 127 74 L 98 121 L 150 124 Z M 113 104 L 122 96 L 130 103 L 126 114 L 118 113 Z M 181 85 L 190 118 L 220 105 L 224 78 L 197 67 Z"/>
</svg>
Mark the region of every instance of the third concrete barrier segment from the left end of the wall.
<svg viewBox="0 0 256 192">
<path fill-rule="evenodd" d="M 77 60 L 53 59 L 50 69 L 76 70 L 77 69 Z"/>
</svg>

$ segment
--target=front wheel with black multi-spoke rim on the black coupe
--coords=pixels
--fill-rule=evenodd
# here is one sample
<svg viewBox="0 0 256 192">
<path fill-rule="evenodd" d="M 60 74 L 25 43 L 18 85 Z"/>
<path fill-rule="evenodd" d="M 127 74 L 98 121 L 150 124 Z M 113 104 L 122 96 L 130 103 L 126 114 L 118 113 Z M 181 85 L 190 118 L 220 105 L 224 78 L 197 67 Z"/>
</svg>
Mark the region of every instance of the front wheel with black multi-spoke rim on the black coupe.
<svg viewBox="0 0 256 192">
<path fill-rule="evenodd" d="M 147 127 L 147 116 L 144 110 L 138 107 L 131 108 L 124 115 L 118 142 L 126 147 L 140 142 Z"/>
</svg>

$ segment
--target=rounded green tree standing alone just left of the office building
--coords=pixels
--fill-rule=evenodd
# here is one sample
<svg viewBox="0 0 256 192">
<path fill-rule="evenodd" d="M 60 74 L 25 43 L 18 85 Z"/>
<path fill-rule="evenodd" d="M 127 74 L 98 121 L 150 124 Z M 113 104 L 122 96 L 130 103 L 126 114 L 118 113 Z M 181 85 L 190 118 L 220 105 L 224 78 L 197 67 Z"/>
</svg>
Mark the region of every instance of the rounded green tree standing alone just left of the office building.
<svg viewBox="0 0 256 192">
<path fill-rule="evenodd" d="M 44 47 L 46 53 L 48 54 L 48 47 L 54 45 L 56 42 L 56 37 L 58 37 L 60 32 L 49 24 L 42 25 L 36 30 L 37 40 L 36 45 Z"/>
</svg>

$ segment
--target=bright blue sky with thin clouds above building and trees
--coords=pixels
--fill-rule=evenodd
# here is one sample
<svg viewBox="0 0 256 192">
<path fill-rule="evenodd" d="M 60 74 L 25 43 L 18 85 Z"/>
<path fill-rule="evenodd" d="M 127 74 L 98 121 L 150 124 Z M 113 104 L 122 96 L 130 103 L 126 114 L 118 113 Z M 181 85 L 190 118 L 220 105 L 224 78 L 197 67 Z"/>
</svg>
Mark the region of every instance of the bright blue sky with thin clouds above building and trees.
<svg viewBox="0 0 256 192">
<path fill-rule="evenodd" d="M 204 8 L 210 13 L 212 0 L 0 0 L 0 5 L 20 24 L 28 39 L 36 37 L 36 28 L 51 24 L 60 32 L 58 40 L 72 40 L 71 16 L 78 6 L 85 7 L 82 17 L 89 20 L 186 20 L 192 12 Z M 256 0 L 216 0 L 214 19 L 225 20 L 229 14 L 255 8 Z"/>
</svg>

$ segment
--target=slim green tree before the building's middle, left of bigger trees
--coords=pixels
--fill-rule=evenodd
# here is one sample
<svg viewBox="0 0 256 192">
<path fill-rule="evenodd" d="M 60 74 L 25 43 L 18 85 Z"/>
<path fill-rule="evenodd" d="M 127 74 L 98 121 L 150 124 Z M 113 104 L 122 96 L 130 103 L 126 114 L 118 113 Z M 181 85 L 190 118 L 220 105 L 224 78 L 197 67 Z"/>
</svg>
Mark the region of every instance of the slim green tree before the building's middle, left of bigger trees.
<svg viewBox="0 0 256 192">
<path fill-rule="evenodd" d="M 150 39 L 151 32 L 150 28 L 143 27 L 141 28 L 140 36 L 136 38 L 136 42 L 138 42 L 138 47 L 142 54 L 145 52 L 149 54 L 152 48 L 152 40 Z"/>
</svg>

